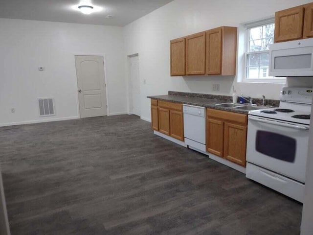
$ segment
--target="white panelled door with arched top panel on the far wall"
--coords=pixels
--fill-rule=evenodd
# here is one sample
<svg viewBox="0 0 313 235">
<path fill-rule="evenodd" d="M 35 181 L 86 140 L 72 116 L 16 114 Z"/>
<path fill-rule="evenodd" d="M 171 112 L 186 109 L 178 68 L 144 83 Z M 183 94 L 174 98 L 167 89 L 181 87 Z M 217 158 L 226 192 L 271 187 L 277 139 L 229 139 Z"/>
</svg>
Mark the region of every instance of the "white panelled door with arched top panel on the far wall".
<svg viewBox="0 0 313 235">
<path fill-rule="evenodd" d="M 103 56 L 75 55 L 81 118 L 107 115 Z"/>
</svg>

